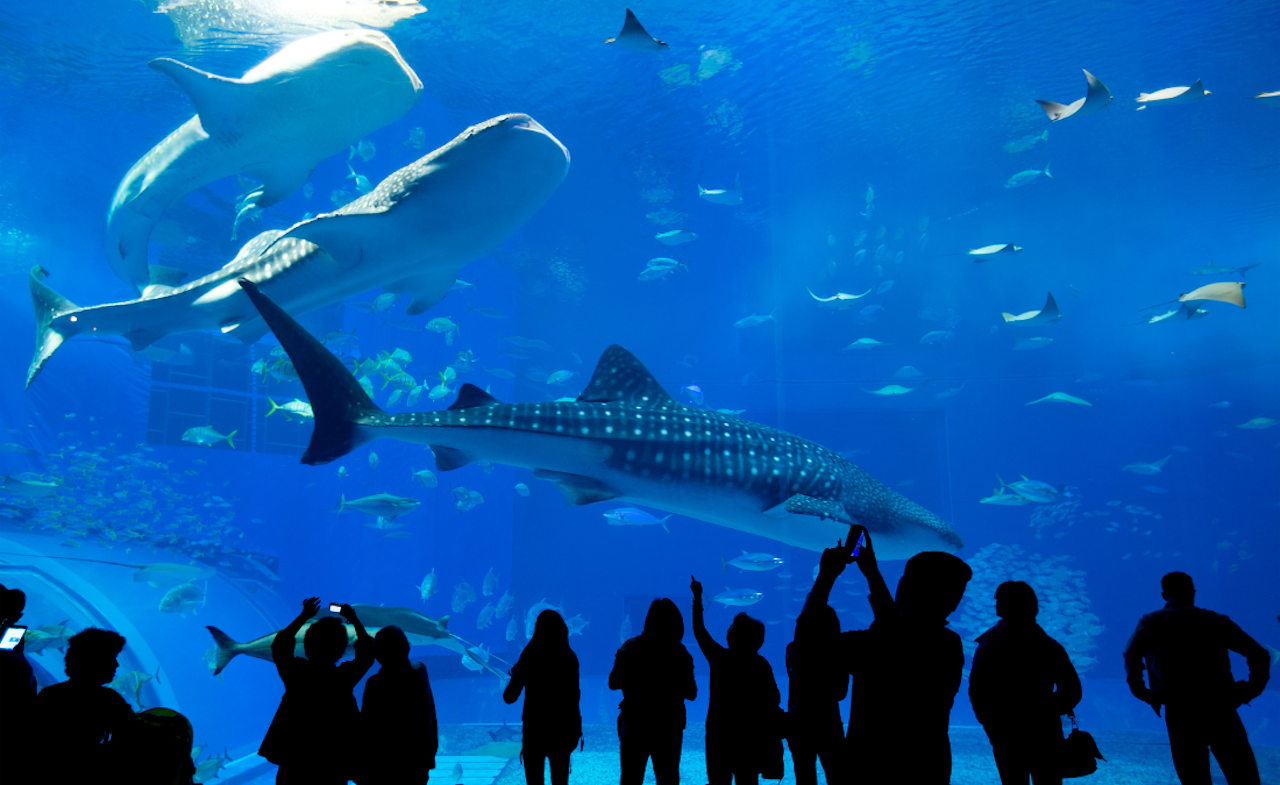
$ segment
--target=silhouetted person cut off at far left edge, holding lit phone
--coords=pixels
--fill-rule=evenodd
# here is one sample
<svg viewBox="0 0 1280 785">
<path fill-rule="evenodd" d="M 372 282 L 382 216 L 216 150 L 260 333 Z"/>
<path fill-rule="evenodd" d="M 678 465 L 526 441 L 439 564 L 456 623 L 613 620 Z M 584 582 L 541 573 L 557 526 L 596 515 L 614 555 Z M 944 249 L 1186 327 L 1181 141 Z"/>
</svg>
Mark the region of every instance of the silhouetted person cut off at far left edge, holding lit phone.
<svg viewBox="0 0 1280 785">
<path fill-rule="evenodd" d="M 22 619 L 27 595 L 0 584 L 0 634 Z M 13 649 L 0 649 L 0 766 L 5 779 L 23 782 L 32 759 L 35 741 L 31 717 L 36 707 L 36 676 L 26 656 L 26 639 Z"/>
</svg>

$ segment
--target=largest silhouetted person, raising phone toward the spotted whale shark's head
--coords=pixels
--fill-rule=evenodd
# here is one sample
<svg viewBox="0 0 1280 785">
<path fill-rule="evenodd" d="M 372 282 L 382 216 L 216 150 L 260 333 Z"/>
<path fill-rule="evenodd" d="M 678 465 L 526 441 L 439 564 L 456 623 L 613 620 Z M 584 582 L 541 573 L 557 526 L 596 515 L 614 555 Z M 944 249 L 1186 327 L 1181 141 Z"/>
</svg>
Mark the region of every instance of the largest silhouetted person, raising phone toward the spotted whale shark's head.
<svg viewBox="0 0 1280 785">
<path fill-rule="evenodd" d="M 827 603 L 836 578 L 854 561 L 852 543 L 861 531 L 851 526 L 847 544 L 823 552 L 805 610 Z M 918 553 L 906 562 L 897 595 L 890 597 L 870 534 L 856 561 L 870 588 L 876 620 L 868 630 L 840 634 L 838 656 L 854 676 L 847 773 L 859 785 L 947 785 L 947 724 L 960 689 L 964 648 L 946 624 L 973 570 L 951 553 Z"/>
</svg>

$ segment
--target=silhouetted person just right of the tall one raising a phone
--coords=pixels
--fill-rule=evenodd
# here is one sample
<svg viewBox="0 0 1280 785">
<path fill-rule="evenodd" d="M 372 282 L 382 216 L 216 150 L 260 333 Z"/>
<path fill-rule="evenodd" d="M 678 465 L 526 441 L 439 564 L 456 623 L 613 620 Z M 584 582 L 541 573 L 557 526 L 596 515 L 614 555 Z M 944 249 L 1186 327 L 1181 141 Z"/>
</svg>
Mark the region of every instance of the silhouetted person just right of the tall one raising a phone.
<svg viewBox="0 0 1280 785">
<path fill-rule="evenodd" d="M 1000 584 L 1000 622 L 978 636 L 969 671 L 969 702 L 991 739 L 1001 785 L 1061 785 L 1061 717 L 1080 702 L 1075 666 L 1036 624 L 1038 612 L 1030 585 Z"/>
</svg>

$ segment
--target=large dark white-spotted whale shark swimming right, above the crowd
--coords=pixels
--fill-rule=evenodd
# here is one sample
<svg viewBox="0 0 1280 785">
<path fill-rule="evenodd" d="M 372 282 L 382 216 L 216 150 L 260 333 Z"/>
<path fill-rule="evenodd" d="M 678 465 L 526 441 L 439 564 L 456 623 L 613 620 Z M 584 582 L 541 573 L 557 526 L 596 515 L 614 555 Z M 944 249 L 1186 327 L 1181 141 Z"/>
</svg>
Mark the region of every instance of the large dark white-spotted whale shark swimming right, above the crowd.
<svg viewBox="0 0 1280 785">
<path fill-rule="evenodd" d="M 680 403 L 621 346 L 604 351 L 576 400 L 503 403 L 463 384 L 445 411 L 388 414 L 255 283 L 241 286 L 311 401 L 306 465 L 390 438 L 430 447 L 440 471 L 481 461 L 520 466 L 573 506 L 626 501 L 809 551 L 829 548 L 855 521 L 876 535 L 884 558 L 963 547 L 942 519 L 836 452 Z"/>
</svg>

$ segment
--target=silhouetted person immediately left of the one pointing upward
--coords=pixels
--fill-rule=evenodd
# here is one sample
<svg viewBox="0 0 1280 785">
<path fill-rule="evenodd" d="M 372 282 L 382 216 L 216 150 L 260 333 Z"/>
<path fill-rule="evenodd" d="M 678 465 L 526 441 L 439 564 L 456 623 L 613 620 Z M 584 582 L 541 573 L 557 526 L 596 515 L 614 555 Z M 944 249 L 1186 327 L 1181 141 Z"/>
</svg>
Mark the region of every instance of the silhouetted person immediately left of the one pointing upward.
<svg viewBox="0 0 1280 785">
<path fill-rule="evenodd" d="M 622 785 L 641 785 L 653 758 L 658 785 L 680 785 L 680 748 L 685 740 L 685 700 L 698 698 L 694 658 L 680 639 L 685 619 L 666 597 L 649 606 L 644 631 L 613 658 L 609 689 L 622 690 L 618 741 Z"/>
</svg>

